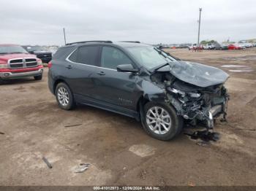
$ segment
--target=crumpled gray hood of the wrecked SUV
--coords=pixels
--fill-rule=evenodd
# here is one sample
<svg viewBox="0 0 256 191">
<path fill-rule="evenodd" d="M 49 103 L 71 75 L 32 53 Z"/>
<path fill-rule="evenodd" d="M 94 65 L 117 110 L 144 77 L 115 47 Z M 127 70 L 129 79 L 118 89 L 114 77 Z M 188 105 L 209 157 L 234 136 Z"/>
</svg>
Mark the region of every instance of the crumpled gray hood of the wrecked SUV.
<svg viewBox="0 0 256 191">
<path fill-rule="evenodd" d="M 224 83 L 229 75 L 221 69 L 189 61 L 171 62 L 157 71 L 170 71 L 174 77 L 199 87 L 208 87 Z"/>
</svg>

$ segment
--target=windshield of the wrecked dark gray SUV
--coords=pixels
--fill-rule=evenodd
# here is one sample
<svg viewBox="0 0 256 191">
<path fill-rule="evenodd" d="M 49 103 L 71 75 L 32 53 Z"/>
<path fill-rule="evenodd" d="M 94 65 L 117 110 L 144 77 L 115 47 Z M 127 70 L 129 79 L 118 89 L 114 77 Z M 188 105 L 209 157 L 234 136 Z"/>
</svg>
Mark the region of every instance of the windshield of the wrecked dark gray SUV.
<svg viewBox="0 0 256 191">
<path fill-rule="evenodd" d="M 175 58 L 156 47 L 127 47 L 127 50 L 146 69 L 153 69 L 165 63 L 176 61 Z"/>
</svg>

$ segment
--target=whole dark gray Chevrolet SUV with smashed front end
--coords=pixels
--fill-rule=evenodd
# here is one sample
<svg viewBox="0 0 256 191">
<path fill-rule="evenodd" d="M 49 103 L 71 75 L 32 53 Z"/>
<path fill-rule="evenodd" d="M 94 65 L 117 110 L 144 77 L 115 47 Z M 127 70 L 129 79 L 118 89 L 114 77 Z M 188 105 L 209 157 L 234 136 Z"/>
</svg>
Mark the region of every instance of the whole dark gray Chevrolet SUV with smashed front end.
<svg viewBox="0 0 256 191">
<path fill-rule="evenodd" d="M 61 109 L 85 104 L 124 114 L 155 139 L 173 139 L 184 122 L 211 130 L 214 119 L 227 112 L 224 71 L 181 61 L 148 44 L 70 43 L 48 67 L 48 86 Z"/>
</svg>

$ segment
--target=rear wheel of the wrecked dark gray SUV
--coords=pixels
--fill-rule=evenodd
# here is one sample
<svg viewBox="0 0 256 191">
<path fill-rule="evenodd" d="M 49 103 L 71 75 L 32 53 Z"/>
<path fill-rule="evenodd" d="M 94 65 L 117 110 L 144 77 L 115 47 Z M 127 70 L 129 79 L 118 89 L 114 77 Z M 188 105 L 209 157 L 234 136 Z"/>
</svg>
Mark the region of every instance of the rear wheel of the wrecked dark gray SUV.
<svg viewBox="0 0 256 191">
<path fill-rule="evenodd" d="M 67 84 L 61 82 L 56 86 L 56 101 L 61 109 L 69 110 L 74 108 L 75 100 L 72 91 Z"/>
</svg>

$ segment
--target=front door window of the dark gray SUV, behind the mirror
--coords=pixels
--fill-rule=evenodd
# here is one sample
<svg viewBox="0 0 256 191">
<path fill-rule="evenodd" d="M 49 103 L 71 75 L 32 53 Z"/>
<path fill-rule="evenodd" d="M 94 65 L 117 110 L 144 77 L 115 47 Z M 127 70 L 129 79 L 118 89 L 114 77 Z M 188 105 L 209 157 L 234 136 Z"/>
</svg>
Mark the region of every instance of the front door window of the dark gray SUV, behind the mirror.
<svg viewBox="0 0 256 191">
<path fill-rule="evenodd" d="M 106 69 L 116 69 L 120 64 L 132 64 L 132 61 L 115 47 L 102 47 L 101 66 Z"/>
</svg>

